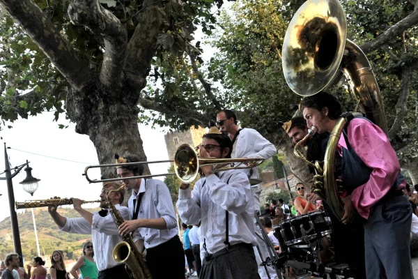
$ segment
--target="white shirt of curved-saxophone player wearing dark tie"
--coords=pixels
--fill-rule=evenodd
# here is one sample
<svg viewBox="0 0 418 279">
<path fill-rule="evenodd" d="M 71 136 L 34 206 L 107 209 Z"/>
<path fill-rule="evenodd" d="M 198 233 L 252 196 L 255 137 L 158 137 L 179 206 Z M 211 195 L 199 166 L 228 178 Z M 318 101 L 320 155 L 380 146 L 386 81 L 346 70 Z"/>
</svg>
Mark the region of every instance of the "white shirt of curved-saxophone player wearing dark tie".
<svg viewBox="0 0 418 279">
<path fill-rule="evenodd" d="M 131 218 L 134 216 L 134 200 L 138 200 L 139 194 L 144 193 L 141 198 L 137 219 L 164 218 L 167 229 L 150 229 L 140 227 L 134 232 L 134 241 L 144 240 L 145 248 L 154 248 L 165 243 L 178 234 L 176 211 L 174 211 L 173 200 L 170 191 L 164 182 L 157 179 L 141 179 L 139 192 L 132 190 L 132 195 L 127 202 Z M 135 202 L 135 206 L 137 202 Z"/>
</svg>

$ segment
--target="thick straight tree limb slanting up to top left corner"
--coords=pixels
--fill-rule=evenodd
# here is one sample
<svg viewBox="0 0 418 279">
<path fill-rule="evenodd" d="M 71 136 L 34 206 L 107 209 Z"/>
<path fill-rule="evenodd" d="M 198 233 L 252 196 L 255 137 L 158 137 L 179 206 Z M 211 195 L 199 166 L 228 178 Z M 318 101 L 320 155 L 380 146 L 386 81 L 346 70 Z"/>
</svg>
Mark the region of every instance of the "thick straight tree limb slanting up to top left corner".
<svg viewBox="0 0 418 279">
<path fill-rule="evenodd" d="M 88 67 L 33 1 L 0 0 L 0 4 L 22 25 L 73 88 L 80 89 L 90 80 Z"/>
</svg>

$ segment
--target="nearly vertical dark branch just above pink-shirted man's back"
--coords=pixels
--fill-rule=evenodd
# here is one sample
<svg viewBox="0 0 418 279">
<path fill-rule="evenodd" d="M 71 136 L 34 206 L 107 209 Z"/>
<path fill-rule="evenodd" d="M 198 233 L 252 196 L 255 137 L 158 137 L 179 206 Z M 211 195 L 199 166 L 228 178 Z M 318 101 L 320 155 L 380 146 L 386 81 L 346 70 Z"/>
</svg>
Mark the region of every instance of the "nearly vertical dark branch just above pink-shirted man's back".
<svg viewBox="0 0 418 279">
<path fill-rule="evenodd" d="M 389 140 L 392 140 L 396 134 L 401 130 L 403 119 L 405 119 L 406 114 L 408 113 L 408 96 L 409 96 L 409 86 L 410 86 L 411 72 L 409 68 L 403 70 L 402 80 L 401 80 L 401 93 L 399 94 L 398 102 L 395 105 L 396 118 L 392 124 L 392 128 L 389 130 Z"/>
</svg>

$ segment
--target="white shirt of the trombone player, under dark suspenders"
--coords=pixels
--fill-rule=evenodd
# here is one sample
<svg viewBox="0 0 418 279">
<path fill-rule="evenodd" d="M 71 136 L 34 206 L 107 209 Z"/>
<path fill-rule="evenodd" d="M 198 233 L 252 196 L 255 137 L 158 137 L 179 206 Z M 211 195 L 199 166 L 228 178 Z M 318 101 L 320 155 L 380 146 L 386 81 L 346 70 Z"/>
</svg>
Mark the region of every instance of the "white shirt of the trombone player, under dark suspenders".
<svg viewBox="0 0 418 279">
<path fill-rule="evenodd" d="M 229 180 L 229 184 L 226 182 Z M 203 185 L 203 182 L 206 183 Z M 223 248 L 226 236 L 225 211 L 229 212 L 229 242 L 256 245 L 254 199 L 245 173 L 236 169 L 210 174 L 190 188 L 179 190 L 177 209 L 185 224 L 201 221 L 201 232 L 209 253 Z"/>
</svg>

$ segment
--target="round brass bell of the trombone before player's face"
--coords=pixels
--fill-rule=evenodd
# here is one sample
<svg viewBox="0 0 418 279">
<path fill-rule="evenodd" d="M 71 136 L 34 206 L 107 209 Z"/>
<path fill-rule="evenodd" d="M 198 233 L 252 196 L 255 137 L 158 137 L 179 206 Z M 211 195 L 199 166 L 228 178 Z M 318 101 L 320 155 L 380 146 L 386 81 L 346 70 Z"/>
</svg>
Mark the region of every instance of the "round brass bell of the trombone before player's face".
<svg viewBox="0 0 418 279">
<path fill-rule="evenodd" d="M 191 183 L 199 174 L 199 156 L 192 146 L 182 144 L 174 154 L 174 169 L 183 183 Z"/>
</svg>

